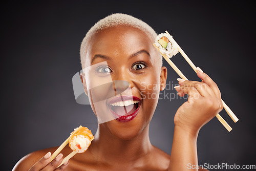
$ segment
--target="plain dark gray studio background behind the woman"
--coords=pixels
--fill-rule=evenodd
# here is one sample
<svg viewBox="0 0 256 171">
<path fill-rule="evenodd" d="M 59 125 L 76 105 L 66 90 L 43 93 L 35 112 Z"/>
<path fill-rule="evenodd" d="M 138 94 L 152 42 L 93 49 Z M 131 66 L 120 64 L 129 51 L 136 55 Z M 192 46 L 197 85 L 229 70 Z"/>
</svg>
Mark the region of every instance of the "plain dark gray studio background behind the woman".
<svg viewBox="0 0 256 171">
<path fill-rule="evenodd" d="M 196 66 L 214 79 L 223 100 L 240 119 L 225 111 L 199 133 L 199 163 L 255 163 L 255 6 L 253 1 L 75 1 L 10 2 L 1 5 L 1 170 L 23 156 L 57 146 L 74 127 L 97 119 L 89 105 L 75 102 L 72 76 L 81 69 L 82 38 L 99 19 L 131 14 L 157 33 L 168 30 Z M 180 54 L 173 58 L 189 79 L 199 80 Z M 178 75 L 168 68 L 170 83 Z M 166 93 L 176 93 L 174 90 Z M 170 154 L 173 118 L 180 99 L 159 100 L 150 127 L 151 142 Z"/>
</svg>

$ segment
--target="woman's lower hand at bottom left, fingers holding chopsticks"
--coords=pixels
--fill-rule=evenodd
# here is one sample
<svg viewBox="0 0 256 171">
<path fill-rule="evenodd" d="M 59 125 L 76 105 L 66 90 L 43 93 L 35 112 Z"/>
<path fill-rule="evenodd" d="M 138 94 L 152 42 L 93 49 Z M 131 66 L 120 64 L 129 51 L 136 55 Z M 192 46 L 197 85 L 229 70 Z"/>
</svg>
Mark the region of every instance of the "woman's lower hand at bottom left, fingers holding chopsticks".
<svg viewBox="0 0 256 171">
<path fill-rule="evenodd" d="M 42 157 L 38 162 L 36 162 L 29 171 L 37 171 L 37 170 L 65 170 L 68 167 L 68 161 L 63 163 L 60 167 L 58 165 L 61 163 L 63 155 L 59 154 L 55 159 L 51 161 L 51 153 L 47 153 L 44 157 Z M 51 162 L 50 162 L 51 161 Z M 58 168 L 56 168 L 58 167 Z"/>
</svg>

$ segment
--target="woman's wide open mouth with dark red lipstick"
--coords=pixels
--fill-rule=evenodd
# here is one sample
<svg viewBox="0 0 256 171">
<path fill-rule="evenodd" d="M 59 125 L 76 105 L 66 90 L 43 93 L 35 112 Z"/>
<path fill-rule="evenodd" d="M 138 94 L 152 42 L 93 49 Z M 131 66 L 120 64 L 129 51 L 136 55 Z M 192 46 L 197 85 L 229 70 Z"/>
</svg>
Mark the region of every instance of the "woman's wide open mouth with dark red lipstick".
<svg viewBox="0 0 256 171">
<path fill-rule="evenodd" d="M 111 113 L 120 122 L 133 120 L 138 114 L 140 105 L 140 99 L 135 96 L 119 96 L 108 104 Z"/>
</svg>

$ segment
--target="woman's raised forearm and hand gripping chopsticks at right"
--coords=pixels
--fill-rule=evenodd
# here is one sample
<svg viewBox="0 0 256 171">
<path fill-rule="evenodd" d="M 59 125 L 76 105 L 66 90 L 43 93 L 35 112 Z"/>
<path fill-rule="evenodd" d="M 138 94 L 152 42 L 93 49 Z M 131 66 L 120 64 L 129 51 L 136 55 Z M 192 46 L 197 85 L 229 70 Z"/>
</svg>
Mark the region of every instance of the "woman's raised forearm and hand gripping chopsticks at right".
<svg viewBox="0 0 256 171">
<path fill-rule="evenodd" d="M 178 79 L 178 95 L 182 97 L 187 94 L 188 100 L 180 106 L 174 117 L 169 170 L 188 170 L 188 164 L 198 165 L 198 132 L 223 109 L 221 93 L 216 83 L 201 69 L 198 69 L 197 75 L 202 82 Z"/>
</svg>

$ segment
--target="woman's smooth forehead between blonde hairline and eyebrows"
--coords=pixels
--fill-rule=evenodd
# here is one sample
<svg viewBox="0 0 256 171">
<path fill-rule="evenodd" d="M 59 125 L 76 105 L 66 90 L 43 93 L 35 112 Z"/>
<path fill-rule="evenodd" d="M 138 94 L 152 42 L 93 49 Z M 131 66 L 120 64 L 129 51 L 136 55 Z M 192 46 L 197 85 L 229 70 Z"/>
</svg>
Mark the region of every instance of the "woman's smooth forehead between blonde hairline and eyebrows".
<svg viewBox="0 0 256 171">
<path fill-rule="evenodd" d="M 115 26 L 96 33 L 89 42 L 87 57 L 102 55 L 131 55 L 140 50 L 154 53 L 153 41 L 141 30 L 129 26 Z"/>
</svg>

